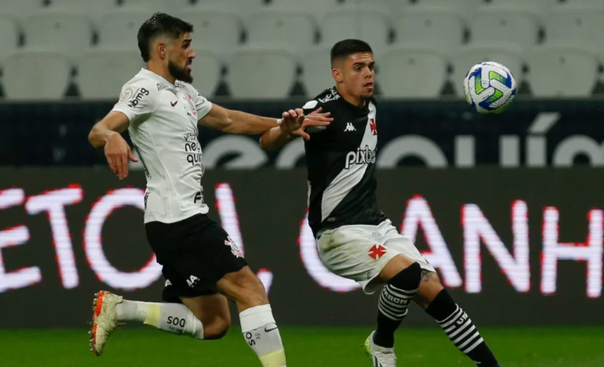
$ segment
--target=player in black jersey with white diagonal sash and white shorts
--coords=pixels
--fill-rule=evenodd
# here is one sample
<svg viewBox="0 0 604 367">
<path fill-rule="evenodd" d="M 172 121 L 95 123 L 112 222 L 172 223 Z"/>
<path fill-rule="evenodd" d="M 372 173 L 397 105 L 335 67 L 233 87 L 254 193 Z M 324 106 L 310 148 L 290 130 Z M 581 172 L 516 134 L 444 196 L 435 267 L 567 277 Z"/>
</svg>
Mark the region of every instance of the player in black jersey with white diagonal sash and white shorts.
<svg viewBox="0 0 604 367">
<path fill-rule="evenodd" d="M 335 87 L 303 110 L 330 113 L 329 126 L 306 129 L 309 225 L 321 261 L 333 273 L 357 281 L 365 293 L 383 286 L 377 327 L 365 341 L 376 367 L 396 366 L 394 331 L 415 301 L 439 322 L 455 346 L 480 367 L 498 362 L 474 323 L 440 283 L 434 268 L 402 237 L 377 207 L 376 147 L 379 119 L 373 98 L 374 60 L 361 40 L 338 42 L 331 51 Z M 266 150 L 295 138 L 274 128 L 260 144 Z"/>
</svg>

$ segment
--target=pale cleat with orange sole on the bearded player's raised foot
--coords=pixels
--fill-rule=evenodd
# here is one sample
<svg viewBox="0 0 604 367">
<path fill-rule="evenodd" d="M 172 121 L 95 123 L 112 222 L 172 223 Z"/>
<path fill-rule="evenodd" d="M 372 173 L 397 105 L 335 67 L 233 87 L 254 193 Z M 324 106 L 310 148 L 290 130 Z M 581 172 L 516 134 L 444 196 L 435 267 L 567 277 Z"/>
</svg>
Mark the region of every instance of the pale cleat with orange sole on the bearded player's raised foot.
<svg viewBox="0 0 604 367">
<path fill-rule="evenodd" d="M 117 313 L 115 305 L 121 303 L 123 298 L 107 291 L 95 293 L 92 301 L 92 329 L 88 331 L 90 337 L 90 350 L 95 356 L 103 353 L 103 348 L 109 336 L 117 326 Z"/>
</svg>

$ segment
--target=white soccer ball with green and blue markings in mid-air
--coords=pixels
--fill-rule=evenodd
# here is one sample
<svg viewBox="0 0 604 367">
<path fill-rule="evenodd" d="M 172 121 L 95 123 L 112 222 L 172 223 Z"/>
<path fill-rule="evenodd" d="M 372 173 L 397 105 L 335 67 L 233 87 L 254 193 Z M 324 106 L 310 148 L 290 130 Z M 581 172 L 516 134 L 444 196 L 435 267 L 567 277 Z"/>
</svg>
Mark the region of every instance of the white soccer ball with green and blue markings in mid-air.
<svg viewBox="0 0 604 367">
<path fill-rule="evenodd" d="M 510 69 L 496 62 L 474 65 L 463 80 L 466 101 L 479 113 L 501 113 L 516 95 Z"/>
</svg>

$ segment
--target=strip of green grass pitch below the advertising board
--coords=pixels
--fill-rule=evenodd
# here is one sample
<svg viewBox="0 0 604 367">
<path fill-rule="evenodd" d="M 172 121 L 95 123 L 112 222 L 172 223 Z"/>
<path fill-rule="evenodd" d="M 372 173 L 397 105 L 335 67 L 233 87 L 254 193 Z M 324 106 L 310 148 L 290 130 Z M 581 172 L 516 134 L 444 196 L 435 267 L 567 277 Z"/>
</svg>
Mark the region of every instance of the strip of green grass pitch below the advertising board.
<svg viewBox="0 0 604 367">
<path fill-rule="evenodd" d="M 281 328 L 288 367 L 369 367 L 361 344 L 370 328 Z M 602 367 L 604 327 L 481 328 L 502 367 Z M 474 366 L 438 328 L 401 328 L 399 366 Z M 86 330 L 2 330 L 0 365 L 7 367 L 179 366 L 255 367 L 260 363 L 233 328 L 222 340 L 199 341 L 147 328 L 112 334 L 94 357 Z"/>
</svg>

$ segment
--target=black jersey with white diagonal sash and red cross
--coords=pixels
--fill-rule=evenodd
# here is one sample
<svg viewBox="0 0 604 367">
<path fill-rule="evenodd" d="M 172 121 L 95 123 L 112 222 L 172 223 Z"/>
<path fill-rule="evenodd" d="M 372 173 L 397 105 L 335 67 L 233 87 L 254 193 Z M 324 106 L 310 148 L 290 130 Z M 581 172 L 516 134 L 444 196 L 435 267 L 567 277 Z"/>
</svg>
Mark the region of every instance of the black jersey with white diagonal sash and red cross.
<svg viewBox="0 0 604 367">
<path fill-rule="evenodd" d="M 335 88 L 326 89 L 303 108 L 308 114 L 323 107 L 332 123 L 312 128 L 304 141 L 308 170 L 309 225 L 321 229 L 344 225 L 377 225 L 386 219 L 377 208 L 376 101 L 355 106 Z"/>
</svg>

